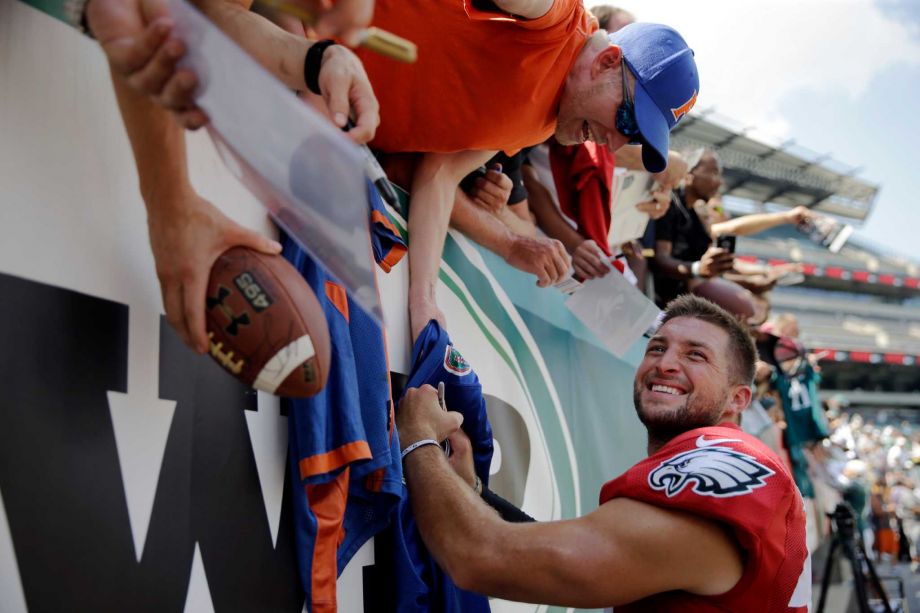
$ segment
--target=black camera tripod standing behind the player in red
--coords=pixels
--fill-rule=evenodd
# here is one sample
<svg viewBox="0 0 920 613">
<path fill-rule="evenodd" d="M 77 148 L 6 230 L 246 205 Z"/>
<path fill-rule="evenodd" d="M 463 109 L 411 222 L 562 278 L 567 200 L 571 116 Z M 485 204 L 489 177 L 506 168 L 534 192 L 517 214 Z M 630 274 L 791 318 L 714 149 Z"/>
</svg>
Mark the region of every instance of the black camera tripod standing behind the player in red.
<svg viewBox="0 0 920 613">
<path fill-rule="evenodd" d="M 850 562 L 850 568 L 853 571 L 853 585 L 856 588 L 856 598 L 859 604 L 860 613 L 873 613 L 874 611 L 884 611 L 885 613 L 895 613 L 888 601 L 888 595 L 878 574 L 875 572 L 875 566 L 872 560 L 866 555 L 863 547 L 861 536 L 856 533 L 856 519 L 853 508 L 845 502 L 841 502 L 834 509 L 833 513 L 827 515 L 833 522 L 832 539 L 830 551 L 827 554 L 827 563 L 824 565 L 824 577 L 821 579 L 821 597 L 818 599 L 818 608 L 816 613 L 824 612 L 824 604 L 827 598 L 827 589 L 831 583 L 831 572 L 836 562 L 835 554 L 839 554 L 839 549 L 843 549 L 843 555 Z M 866 574 L 871 582 L 872 589 L 881 599 L 881 608 L 872 607 L 869 603 L 869 594 L 866 590 Z M 901 608 L 898 607 L 898 611 Z"/>
</svg>

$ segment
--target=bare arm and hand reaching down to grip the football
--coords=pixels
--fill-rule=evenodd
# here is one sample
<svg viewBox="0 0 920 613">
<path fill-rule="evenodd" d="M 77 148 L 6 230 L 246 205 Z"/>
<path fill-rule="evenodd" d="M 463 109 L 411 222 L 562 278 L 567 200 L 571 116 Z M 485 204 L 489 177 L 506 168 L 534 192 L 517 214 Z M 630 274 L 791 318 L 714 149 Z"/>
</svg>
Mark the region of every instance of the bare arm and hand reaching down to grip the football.
<svg viewBox="0 0 920 613">
<path fill-rule="evenodd" d="M 207 351 L 204 304 L 217 257 L 234 245 L 278 253 L 281 245 L 233 222 L 192 189 L 185 133 L 173 117 L 114 72 L 112 83 L 147 207 L 150 246 L 166 319 L 182 340 Z"/>
</svg>

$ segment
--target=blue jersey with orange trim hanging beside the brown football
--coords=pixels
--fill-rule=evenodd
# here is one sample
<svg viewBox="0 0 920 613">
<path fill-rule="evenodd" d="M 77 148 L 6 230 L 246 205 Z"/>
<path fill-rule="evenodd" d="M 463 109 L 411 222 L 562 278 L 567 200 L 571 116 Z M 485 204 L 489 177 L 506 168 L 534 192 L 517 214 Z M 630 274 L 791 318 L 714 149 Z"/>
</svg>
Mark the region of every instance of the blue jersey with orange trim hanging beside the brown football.
<svg viewBox="0 0 920 613">
<path fill-rule="evenodd" d="M 405 253 L 369 184 L 371 246 L 385 270 Z M 403 495 L 383 330 L 290 237 L 283 255 L 316 294 L 329 327 L 326 386 L 282 400 L 288 415 L 295 539 L 307 609 L 336 610 L 336 577 L 382 530 Z M 383 262 L 386 260 L 386 263 Z"/>
</svg>

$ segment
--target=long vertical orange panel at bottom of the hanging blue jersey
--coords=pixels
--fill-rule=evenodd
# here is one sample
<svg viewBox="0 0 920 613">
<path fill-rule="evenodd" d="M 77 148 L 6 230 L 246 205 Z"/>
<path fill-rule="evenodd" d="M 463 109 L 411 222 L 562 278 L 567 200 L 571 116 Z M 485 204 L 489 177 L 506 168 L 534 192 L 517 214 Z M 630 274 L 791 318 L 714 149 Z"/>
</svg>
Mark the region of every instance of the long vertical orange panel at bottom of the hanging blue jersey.
<svg viewBox="0 0 920 613">
<path fill-rule="evenodd" d="M 304 491 L 310 510 L 316 517 L 316 540 L 313 542 L 311 607 L 313 613 L 335 613 L 336 553 L 345 533 L 345 503 L 348 501 L 346 468 L 329 483 L 306 485 Z"/>
</svg>

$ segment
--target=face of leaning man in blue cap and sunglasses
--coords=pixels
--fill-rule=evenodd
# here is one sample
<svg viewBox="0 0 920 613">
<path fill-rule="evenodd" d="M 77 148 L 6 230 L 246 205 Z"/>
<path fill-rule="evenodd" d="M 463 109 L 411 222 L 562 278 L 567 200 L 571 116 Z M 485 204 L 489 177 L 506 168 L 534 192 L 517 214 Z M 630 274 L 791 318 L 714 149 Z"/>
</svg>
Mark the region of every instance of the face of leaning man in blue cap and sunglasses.
<svg viewBox="0 0 920 613">
<path fill-rule="evenodd" d="M 593 141 L 616 151 L 629 139 L 616 129 L 616 110 L 622 102 L 620 50 L 608 46 L 593 59 L 572 67 L 559 102 L 556 140 L 562 145 Z M 629 87 L 635 87 L 630 79 Z"/>
</svg>

